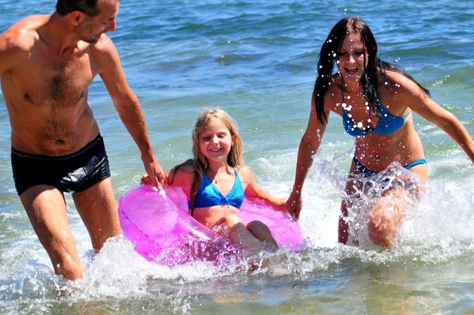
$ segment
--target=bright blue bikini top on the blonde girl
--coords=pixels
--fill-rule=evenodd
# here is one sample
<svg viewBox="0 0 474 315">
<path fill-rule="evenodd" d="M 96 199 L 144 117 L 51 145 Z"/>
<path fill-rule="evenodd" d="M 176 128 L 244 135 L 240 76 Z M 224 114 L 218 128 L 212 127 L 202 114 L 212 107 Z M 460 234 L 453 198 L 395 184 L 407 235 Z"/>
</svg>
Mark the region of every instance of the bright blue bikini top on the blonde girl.
<svg viewBox="0 0 474 315">
<path fill-rule="evenodd" d="M 201 186 L 196 195 L 195 208 L 212 207 L 213 205 L 232 205 L 237 209 L 244 202 L 244 187 L 237 174 L 237 168 L 234 167 L 235 181 L 234 186 L 227 195 L 220 193 L 218 188 L 212 183 L 206 173 L 202 176 Z"/>
</svg>

